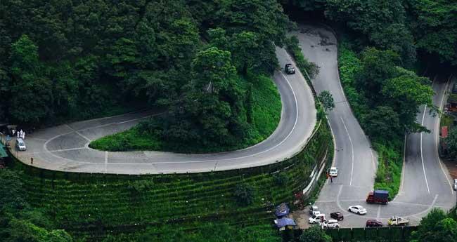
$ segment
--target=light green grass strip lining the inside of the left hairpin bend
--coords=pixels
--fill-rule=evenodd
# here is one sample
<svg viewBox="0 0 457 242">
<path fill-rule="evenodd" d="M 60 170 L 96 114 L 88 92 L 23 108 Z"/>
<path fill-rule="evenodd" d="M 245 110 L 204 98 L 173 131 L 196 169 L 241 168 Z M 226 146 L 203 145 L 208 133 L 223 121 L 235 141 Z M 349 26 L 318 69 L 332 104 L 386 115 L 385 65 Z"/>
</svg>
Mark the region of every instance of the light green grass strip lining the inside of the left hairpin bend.
<svg viewBox="0 0 457 242">
<path fill-rule="evenodd" d="M 138 126 L 122 133 L 108 135 L 91 142 L 90 147 L 105 151 L 157 150 L 186 153 L 227 152 L 243 149 L 265 140 L 278 126 L 281 119 L 281 97 L 273 81 L 266 76 L 248 76 L 238 83 L 247 90 L 252 83 L 252 125 L 245 140 L 233 147 L 193 147 L 192 144 L 168 144 L 153 135 L 143 134 Z"/>
</svg>

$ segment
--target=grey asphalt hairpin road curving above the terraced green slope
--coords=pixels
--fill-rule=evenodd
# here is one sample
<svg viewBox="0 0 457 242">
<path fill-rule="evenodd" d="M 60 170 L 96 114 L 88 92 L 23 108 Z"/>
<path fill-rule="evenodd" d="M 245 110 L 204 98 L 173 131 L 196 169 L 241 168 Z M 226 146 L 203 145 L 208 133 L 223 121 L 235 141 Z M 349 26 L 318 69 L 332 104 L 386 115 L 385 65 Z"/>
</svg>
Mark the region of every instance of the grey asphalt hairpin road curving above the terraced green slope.
<svg viewBox="0 0 457 242">
<path fill-rule="evenodd" d="M 292 62 L 281 48 L 276 50 L 281 67 Z M 15 153 L 33 166 L 83 173 L 157 174 L 197 173 L 262 166 L 283 161 L 297 152 L 316 125 L 311 89 L 302 74 L 275 72 L 273 79 L 281 93 L 281 121 L 264 142 L 246 149 L 218 154 L 175 154 L 169 152 L 101 152 L 88 147 L 91 140 L 134 126 L 153 112 L 124 114 L 104 119 L 69 123 L 27 135 L 27 152 Z"/>
</svg>

